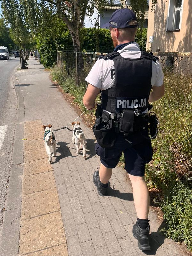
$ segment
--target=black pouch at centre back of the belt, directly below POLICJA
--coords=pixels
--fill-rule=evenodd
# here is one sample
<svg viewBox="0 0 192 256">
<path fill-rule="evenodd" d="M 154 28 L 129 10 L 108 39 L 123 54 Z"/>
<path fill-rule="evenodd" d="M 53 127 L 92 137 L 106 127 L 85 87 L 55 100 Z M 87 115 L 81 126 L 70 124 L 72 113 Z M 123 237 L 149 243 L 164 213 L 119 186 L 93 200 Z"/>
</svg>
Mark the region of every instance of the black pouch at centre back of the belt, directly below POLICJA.
<svg viewBox="0 0 192 256">
<path fill-rule="evenodd" d="M 134 110 L 123 110 L 120 117 L 119 131 L 133 132 L 134 117 Z"/>
</svg>

